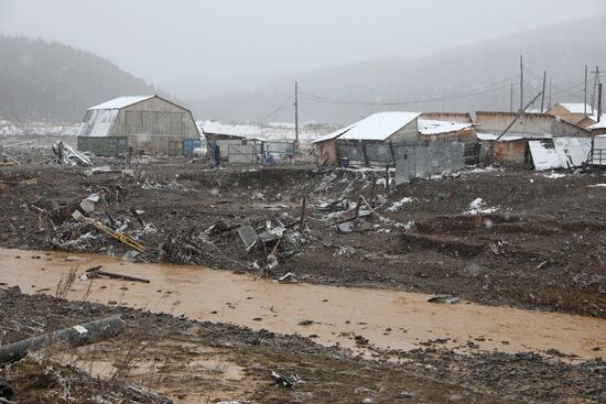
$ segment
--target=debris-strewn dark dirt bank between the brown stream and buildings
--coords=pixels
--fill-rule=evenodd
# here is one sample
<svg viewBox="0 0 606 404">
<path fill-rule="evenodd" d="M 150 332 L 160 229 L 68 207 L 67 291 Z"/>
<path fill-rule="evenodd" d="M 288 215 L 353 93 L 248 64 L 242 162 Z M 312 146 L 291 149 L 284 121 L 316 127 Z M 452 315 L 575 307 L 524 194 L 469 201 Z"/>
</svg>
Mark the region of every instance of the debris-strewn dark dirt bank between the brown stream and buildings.
<svg viewBox="0 0 606 404">
<path fill-rule="evenodd" d="M 40 149 L 23 153 L 44 161 Z M 283 212 L 295 220 L 305 197 L 309 231 L 301 232 L 294 251 L 278 247 L 272 276 L 293 272 L 311 283 L 453 294 L 483 304 L 606 316 L 606 187 L 594 186 L 606 183 L 600 174 L 467 170 L 387 193 L 381 171 L 210 171 L 206 162 L 159 159 L 134 163 L 129 176 L 120 173 L 122 161 L 97 165 L 107 163 L 116 172 L 86 175 L 86 168 L 35 160 L 0 168 L 0 181 L 36 181 L 0 190 L 6 218 L 0 247 L 50 248 L 31 205 L 65 220 L 65 211 L 69 219 L 83 198 L 104 193 L 111 214 L 127 218 L 131 228 L 140 227 L 133 209 L 143 210 L 144 222 L 153 225 L 156 231 L 139 237 L 148 248 L 147 260 L 258 271 L 258 256 L 246 252 L 235 229 L 251 223 L 260 230 Z M 375 214 L 360 219 L 351 232 L 336 230 L 335 222 L 355 214 L 353 204 L 359 196 L 374 204 Z M 484 200 L 485 214 L 469 214 L 476 198 Z M 349 203 L 349 210 L 322 209 L 339 199 Z M 227 231 L 213 240 L 212 251 L 199 256 L 172 254 L 175 239 L 181 242 L 217 223 Z M 90 250 L 125 251 L 106 239 Z"/>
</svg>

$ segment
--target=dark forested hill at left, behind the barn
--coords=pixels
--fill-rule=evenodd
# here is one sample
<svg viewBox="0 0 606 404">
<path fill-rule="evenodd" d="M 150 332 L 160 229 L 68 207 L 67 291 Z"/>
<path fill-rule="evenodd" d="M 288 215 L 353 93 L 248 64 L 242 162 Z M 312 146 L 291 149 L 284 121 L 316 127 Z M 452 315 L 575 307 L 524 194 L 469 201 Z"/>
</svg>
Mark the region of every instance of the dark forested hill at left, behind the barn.
<svg viewBox="0 0 606 404">
<path fill-rule="evenodd" d="M 78 122 L 85 109 L 156 90 L 110 62 L 58 43 L 0 35 L 0 117 Z"/>
</svg>

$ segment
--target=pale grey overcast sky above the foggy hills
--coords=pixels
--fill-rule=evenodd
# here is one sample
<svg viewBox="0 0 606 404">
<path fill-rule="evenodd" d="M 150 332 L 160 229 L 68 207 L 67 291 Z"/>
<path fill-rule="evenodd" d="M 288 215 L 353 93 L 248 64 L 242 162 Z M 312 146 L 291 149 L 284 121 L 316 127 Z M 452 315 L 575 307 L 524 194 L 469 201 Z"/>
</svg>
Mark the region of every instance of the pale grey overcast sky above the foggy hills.
<svg viewBox="0 0 606 404">
<path fill-rule="evenodd" d="M 603 14 L 605 0 L 0 0 L 0 32 L 90 51 L 190 98 Z"/>
</svg>

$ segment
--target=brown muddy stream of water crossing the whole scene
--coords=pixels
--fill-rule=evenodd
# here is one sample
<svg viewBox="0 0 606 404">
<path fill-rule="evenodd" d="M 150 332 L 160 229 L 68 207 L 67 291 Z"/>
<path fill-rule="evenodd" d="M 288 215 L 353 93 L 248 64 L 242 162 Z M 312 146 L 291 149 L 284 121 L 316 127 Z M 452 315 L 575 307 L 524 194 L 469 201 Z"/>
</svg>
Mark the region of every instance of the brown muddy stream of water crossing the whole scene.
<svg viewBox="0 0 606 404">
<path fill-rule="evenodd" d="M 71 299 L 185 315 L 280 334 L 316 336 L 318 343 L 358 350 L 354 335 L 377 348 L 409 350 L 420 342 L 450 338 L 446 347 L 465 352 L 472 340 L 504 352 L 556 349 L 594 358 L 606 348 L 606 319 L 491 307 L 461 302 L 428 303 L 429 295 L 372 288 L 279 284 L 251 275 L 201 266 L 133 264 L 100 254 L 67 254 L 0 249 L 0 283 L 23 293 L 53 295 L 62 275 L 94 265 L 149 279 L 150 283 L 76 280 Z M 310 325 L 300 321 L 312 320 Z"/>
</svg>

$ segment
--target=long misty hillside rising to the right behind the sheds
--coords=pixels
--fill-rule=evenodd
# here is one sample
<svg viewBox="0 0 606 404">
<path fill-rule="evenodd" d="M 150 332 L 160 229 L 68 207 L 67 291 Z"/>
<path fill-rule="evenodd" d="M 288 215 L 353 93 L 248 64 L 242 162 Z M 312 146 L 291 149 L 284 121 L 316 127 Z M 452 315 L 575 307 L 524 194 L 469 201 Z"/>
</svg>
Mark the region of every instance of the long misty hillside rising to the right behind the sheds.
<svg viewBox="0 0 606 404">
<path fill-rule="evenodd" d="M 524 56 L 524 103 L 539 92 L 543 70 L 548 83 L 550 77 L 553 80 L 553 103 L 581 102 L 584 65 L 589 70 L 596 65 L 606 68 L 605 24 L 606 18 L 600 17 L 486 42 L 480 42 L 483 33 L 478 32 L 477 44 L 422 58 L 393 57 L 284 77 L 255 91 L 201 98 L 193 102 L 194 111 L 207 119 L 292 121 L 289 96 L 295 80 L 303 122 L 345 123 L 378 110 L 509 110 L 511 84 L 517 109 L 520 54 Z M 405 55 L 407 50 L 397 52 Z M 588 92 L 592 84 L 589 74 Z M 428 99 L 434 100 L 369 105 Z"/>
</svg>

